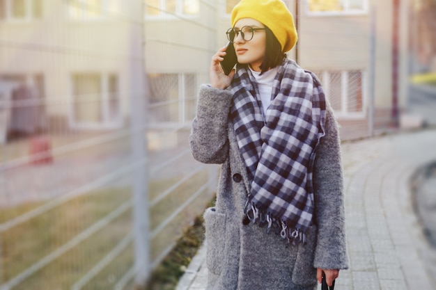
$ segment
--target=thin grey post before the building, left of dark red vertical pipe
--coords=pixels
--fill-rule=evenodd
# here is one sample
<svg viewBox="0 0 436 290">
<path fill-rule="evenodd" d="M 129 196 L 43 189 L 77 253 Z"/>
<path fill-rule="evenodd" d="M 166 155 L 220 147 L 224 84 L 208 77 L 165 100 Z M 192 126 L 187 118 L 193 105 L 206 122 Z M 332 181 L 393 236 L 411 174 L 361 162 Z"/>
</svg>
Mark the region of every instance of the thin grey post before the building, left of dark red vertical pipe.
<svg viewBox="0 0 436 290">
<path fill-rule="evenodd" d="M 374 99 L 375 99 L 375 7 L 371 8 L 371 31 L 369 40 L 369 102 L 368 102 L 368 135 L 374 136 Z"/>
</svg>

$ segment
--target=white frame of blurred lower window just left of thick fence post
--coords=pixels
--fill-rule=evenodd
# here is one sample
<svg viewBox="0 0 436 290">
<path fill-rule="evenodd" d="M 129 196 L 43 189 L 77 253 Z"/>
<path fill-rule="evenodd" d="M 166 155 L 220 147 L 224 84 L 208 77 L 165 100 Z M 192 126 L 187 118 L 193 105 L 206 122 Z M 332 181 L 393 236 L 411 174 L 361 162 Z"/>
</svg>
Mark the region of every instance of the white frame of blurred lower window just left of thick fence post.
<svg viewBox="0 0 436 290">
<path fill-rule="evenodd" d="M 77 99 L 74 95 L 75 83 L 74 78 L 77 75 L 87 75 L 87 74 L 97 74 L 100 76 L 100 110 L 102 112 L 102 120 L 100 122 L 81 122 L 75 118 L 75 102 Z M 111 115 L 110 113 L 110 95 L 109 92 L 109 78 L 111 76 L 116 76 L 118 83 L 118 114 Z M 118 129 L 123 125 L 123 113 L 121 108 L 121 96 L 120 96 L 120 74 L 117 72 L 89 72 L 89 71 L 75 71 L 71 72 L 69 75 L 69 89 L 70 92 L 70 102 L 69 102 L 69 112 L 68 112 L 68 124 L 72 129 Z"/>
</svg>

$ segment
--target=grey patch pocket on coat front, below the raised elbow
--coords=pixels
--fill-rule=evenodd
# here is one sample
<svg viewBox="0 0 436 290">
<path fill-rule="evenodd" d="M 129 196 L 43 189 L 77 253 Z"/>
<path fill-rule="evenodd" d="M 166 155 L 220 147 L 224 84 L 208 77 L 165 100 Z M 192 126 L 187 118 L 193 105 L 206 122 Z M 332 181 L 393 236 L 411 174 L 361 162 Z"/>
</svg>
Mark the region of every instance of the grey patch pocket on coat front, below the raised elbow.
<svg viewBox="0 0 436 290">
<path fill-rule="evenodd" d="M 215 275 L 221 273 L 226 244 L 226 215 L 217 213 L 215 207 L 206 209 L 204 214 L 206 228 L 206 264 Z"/>
</svg>

